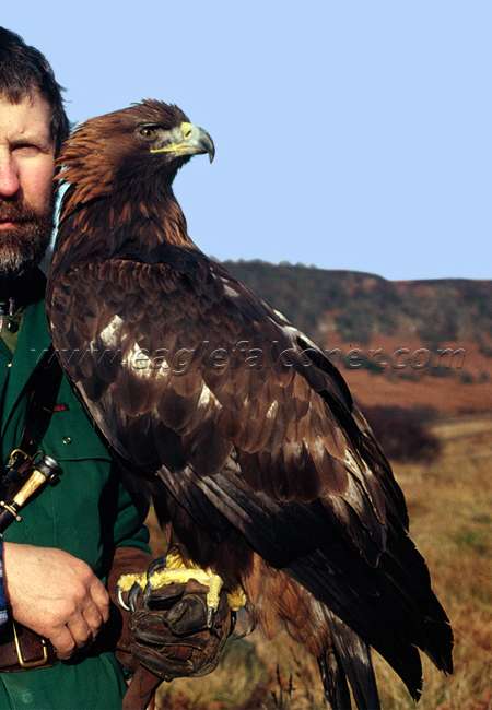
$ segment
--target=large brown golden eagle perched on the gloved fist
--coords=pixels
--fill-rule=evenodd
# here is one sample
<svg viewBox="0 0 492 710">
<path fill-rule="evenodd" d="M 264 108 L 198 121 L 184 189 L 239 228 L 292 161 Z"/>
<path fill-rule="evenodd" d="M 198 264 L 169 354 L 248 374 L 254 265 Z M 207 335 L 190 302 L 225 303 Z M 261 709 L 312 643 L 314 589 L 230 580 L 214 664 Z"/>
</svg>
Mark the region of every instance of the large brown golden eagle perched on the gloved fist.
<svg viewBox="0 0 492 710">
<path fill-rule="evenodd" d="M 379 707 L 370 647 L 418 698 L 418 649 L 450 672 L 453 636 L 402 493 L 321 350 L 189 237 L 173 180 L 197 153 L 210 135 L 157 100 L 68 140 L 56 352 L 189 558 L 318 659 L 332 708 L 348 684 Z"/>
</svg>

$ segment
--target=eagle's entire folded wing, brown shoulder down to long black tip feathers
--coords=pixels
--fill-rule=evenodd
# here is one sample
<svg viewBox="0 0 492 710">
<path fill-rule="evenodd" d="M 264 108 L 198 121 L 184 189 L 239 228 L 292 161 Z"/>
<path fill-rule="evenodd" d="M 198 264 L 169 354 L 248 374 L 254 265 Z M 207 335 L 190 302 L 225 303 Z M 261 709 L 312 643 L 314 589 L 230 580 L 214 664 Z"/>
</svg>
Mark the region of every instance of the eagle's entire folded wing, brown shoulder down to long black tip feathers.
<svg viewBox="0 0 492 710">
<path fill-rule="evenodd" d="M 405 501 L 323 352 L 199 251 L 73 267 L 48 291 L 63 368 L 113 447 L 204 529 L 233 526 L 394 665 L 449 668 Z M 444 655 L 443 655 L 444 654 Z"/>
</svg>

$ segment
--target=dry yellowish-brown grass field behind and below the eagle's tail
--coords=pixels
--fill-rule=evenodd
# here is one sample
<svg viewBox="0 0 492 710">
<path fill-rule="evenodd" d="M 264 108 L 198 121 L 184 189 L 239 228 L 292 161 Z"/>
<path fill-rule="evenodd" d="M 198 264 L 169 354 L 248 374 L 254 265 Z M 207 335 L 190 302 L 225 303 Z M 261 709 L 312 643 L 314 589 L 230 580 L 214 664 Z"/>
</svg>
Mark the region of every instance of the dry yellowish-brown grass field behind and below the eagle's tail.
<svg viewBox="0 0 492 710">
<path fill-rule="evenodd" d="M 492 416 L 434 423 L 442 441 L 430 465 L 395 463 L 411 534 L 431 568 L 455 631 L 455 673 L 424 660 L 419 710 L 492 709 Z M 384 710 L 414 708 L 390 668 L 375 659 Z M 161 686 L 160 710 L 315 710 L 325 708 L 313 662 L 289 638 L 257 632 L 231 640 L 204 678 Z"/>
</svg>

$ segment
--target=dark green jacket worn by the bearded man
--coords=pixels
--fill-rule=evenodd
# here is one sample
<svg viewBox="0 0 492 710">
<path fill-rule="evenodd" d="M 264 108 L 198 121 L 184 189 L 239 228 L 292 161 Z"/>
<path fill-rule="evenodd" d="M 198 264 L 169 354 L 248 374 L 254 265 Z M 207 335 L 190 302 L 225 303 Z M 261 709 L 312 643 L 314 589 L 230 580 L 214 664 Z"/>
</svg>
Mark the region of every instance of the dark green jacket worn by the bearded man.
<svg viewBox="0 0 492 710">
<path fill-rule="evenodd" d="M 25 309 L 13 359 L 0 340 L 3 463 L 22 439 L 25 386 L 49 343 L 44 300 Z M 65 377 L 57 402 L 68 409 L 52 414 L 42 448 L 62 466 L 61 478 L 26 506 L 22 522 L 12 523 L 4 540 L 65 549 L 105 580 L 115 547 L 148 552 L 144 511 L 137 510 L 121 485 L 103 440 Z M 125 687 L 114 654 L 103 653 L 50 668 L 0 673 L 0 710 L 116 710 Z"/>
</svg>

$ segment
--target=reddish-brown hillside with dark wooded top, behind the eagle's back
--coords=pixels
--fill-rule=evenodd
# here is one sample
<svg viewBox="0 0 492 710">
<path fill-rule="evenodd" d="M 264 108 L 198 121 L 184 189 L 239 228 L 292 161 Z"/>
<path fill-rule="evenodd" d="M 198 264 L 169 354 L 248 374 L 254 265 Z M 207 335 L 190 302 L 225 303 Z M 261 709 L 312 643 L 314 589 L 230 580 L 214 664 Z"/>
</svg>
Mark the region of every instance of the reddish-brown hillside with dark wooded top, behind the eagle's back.
<svg viewBox="0 0 492 710">
<path fill-rule="evenodd" d="M 327 351 L 361 404 L 492 410 L 492 281 L 224 265 Z"/>
</svg>

